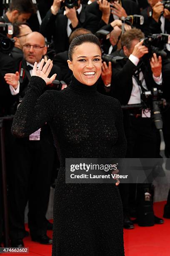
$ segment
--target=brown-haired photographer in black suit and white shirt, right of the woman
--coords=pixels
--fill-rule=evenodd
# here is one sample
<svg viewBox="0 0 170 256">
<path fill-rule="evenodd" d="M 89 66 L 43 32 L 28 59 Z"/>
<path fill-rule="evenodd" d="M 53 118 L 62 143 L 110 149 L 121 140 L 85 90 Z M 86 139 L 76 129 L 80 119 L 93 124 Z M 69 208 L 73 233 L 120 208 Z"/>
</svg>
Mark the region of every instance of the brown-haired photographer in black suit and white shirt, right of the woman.
<svg viewBox="0 0 170 256">
<path fill-rule="evenodd" d="M 127 61 L 122 61 L 111 69 L 107 67 L 104 83 L 111 83 L 112 96 L 120 100 L 122 105 L 141 103 L 141 93 L 148 91 L 152 87 L 159 87 L 162 83 L 162 59 L 153 54 L 148 59 L 148 48 L 143 45 L 144 34 L 139 29 L 133 28 L 126 31 L 121 36 L 122 50 L 115 52 L 115 56 L 124 56 Z M 156 158 L 157 131 L 155 124 L 150 118 L 150 110 L 125 110 L 124 128 L 128 141 L 127 158 Z M 139 186 L 140 185 L 140 186 Z M 138 217 L 143 207 L 144 184 L 138 184 L 137 211 Z M 147 189 L 151 188 L 150 184 Z M 120 194 L 124 208 L 124 228 L 134 228 L 133 222 L 129 217 L 129 195 L 130 185 L 120 184 Z M 152 206 L 153 207 L 153 206 Z M 152 209 L 153 211 L 153 209 Z M 147 215 L 146 215 L 147 217 Z M 163 220 L 153 215 L 150 222 L 138 218 L 138 223 L 142 226 L 163 223 Z"/>
</svg>

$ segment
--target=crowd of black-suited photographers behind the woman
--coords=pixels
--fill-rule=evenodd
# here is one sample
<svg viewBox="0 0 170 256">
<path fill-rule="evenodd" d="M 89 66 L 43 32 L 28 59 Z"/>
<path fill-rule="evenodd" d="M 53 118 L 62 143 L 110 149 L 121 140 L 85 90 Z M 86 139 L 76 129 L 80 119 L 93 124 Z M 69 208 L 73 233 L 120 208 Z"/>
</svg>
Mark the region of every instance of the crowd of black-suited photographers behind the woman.
<svg viewBox="0 0 170 256">
<path fill-rule="evenodd" d="M 72 75 L 67 65 L 70 42 L 82 33 L 95 33 L 103 51 L 97 90 L 122 104 L 126 157 L 160 159 L 160 129 L 165 156 L 170 157 L 170 1 L 6 2 L 0 17 L 0 117 L 15 114 L 28 89 L 33 64 L 42 57 L 53 60 L 51 74 L 57 73 L 46 90 L 67 87 Z M 23 238 L 29 235 L 24 225 L 27 202 L 32 241 L 51 244 L 46 232 L 52 224 L 45 215 L 59 167 L 52 134 L 45 124 L 29 138 L 15 138 L 10 134 L 11 122 L 4 123 L 11 246 L 24 246 Z M 153 164 L 154 172 L 163 172 L 160 160 Z M 140 226 L 164 223 L 153 212 L 152 182 L 151 178 L 137 186 L 119 185 L 124 228 L 134 228 L 130 217 L 136 217 Z M 170 192 L 163 217 L 170 218 Z"/>
</svg>

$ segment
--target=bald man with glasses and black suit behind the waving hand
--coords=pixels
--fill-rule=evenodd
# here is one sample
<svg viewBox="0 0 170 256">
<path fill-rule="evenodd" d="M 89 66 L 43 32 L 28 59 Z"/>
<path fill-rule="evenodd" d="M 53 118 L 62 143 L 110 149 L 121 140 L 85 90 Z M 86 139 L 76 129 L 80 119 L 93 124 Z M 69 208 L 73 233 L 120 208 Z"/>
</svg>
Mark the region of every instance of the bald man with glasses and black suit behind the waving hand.
<svg viewBox="0 0 170 256">
<path fill-rule="evenodd" d="M 20 100 L 28 90 L 35 61 L 39 65 L 47 53 L 45 38 L 38 32 L 29 33 L 23 44 L 24 58 L 15 74 L 5 74 L 11 93 Z M 53 66 L 52 74 L 60 80 L 60 68 Z M 51 73 L 50 73 L 51 75 Z M 32 100 L 32 99 L 30 99 Z M 28 225 L 32 241 L 51 244 L 46 235 L 47 211 L 52 171 L 56 151 L 50 128 L 45 124 L 28 138 L 14 138 L 10 147 L 11 163 L 9 175 L 10 238 L 11 246 L 22 247 L 25 236 L 24 212 L 28 202 Z M 15 153 L 14 153 L 15 152 Z"/>
</svg>

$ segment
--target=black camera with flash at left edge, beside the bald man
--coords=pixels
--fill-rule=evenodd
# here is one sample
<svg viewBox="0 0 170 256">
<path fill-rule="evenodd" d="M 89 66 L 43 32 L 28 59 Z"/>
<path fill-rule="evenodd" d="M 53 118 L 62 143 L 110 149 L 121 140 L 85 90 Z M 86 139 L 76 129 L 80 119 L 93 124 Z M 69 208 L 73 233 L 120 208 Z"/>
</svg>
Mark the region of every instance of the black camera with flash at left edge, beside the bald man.
<svg viewBox="0 0 170 256">
<path fill-rule="evenodd" d="M 13 35 L 13 25 L 11 23 L 0 24 L 0 51 L 3 53 L 10 53 L 14 47 L 14 39 L 7 37 Z"/>
</svg>

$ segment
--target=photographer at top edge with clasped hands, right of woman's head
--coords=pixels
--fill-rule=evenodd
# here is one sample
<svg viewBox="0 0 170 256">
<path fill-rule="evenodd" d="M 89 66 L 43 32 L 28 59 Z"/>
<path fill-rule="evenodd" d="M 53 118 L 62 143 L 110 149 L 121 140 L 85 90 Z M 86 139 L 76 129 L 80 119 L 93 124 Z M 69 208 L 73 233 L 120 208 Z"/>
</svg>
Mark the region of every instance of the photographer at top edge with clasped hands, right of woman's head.
<svg viewBox="0 0 170 256">
<path fill-rule="evenodd" d="M 113 20 L 121 19 L 122 16 L 127 17 L 128 15 L 140 13 L 138 5 L 131 0 L 120 0 L 118 2 L 115 0 L 99 0 L 87 6 L 87 11 L 97 18 L 98 29 Z"/>
</svg>

